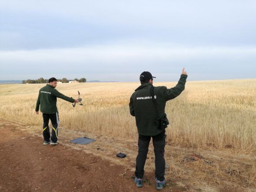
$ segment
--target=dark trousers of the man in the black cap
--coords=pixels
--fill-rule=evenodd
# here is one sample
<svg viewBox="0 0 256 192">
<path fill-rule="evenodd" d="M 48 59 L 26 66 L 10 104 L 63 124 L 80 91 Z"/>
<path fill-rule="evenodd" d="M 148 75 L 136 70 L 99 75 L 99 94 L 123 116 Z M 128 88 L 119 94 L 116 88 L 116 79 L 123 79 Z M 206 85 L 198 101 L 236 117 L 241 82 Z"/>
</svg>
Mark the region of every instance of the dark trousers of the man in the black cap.
<svg viewBox="0 0 256 192">
<path fill-rule="evenodd" d="M 164 133 L 165 130 L 156 136 L 152 136 L 155 155 L 155 177 L 160 181 L 164 180 L 165 171 L 164 147 L 166 135 Z M 144 175 L 144 165 L 147 159 L 150 140 L 151 136 L 139 135 L 135 176 L 140 179 L 142 179 Z"/>
</svg>

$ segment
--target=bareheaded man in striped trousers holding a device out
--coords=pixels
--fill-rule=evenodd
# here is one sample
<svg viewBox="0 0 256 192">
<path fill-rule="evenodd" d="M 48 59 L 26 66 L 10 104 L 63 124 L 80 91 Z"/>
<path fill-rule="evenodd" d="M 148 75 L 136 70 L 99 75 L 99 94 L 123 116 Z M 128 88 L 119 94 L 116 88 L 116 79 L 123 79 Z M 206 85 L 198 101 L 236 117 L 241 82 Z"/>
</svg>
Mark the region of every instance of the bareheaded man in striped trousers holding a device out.
<svg viewBox="0 0 256 192">
<path fill-rule="evenodd" d="M 50 78 L 49 84 L 46 84 L 39 90 L 39 95 L 36 101 L 36 114 L 40 111 L 43 113 L 43 145 L 57 145 L 58 142 L 58 128 L 59 128 L 59 112 L 57 110 L 57 98 L 64 99 L 71 103 L 78 103 L 77 99 L 69 98 L 61 94 L 55 88 L 57 86 L 57 79 Z M 52 137 L 50 137 L 49 120 L 51 120 L 53 129 Z"/>
</svg>

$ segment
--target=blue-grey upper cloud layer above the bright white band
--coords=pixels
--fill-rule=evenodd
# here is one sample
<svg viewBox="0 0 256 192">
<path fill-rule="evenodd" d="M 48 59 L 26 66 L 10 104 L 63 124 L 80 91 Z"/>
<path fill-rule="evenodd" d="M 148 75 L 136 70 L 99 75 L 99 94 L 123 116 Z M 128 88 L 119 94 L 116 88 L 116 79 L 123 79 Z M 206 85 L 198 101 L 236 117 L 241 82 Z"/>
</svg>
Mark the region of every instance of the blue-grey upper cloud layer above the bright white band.
<svg viewBox="0 0 256 192">
<path fill-rule="evenodd" d="M 19 36 L 0 36 L 0 50 L 74 47 L 122 39 L 256 46 L 255 10 L 252 0 L 1 1 L 0 31 Z"/>
</svg>

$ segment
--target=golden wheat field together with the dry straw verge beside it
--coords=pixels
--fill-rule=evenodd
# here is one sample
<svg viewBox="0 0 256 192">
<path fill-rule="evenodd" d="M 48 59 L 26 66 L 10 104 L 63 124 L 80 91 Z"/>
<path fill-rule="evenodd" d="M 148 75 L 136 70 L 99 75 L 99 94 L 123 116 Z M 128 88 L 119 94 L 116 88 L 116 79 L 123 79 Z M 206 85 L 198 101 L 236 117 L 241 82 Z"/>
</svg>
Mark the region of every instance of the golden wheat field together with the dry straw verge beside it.
<svg viewBox="0 0 256 192">
<path fill-rule="evenodd" d="M 154 82 L 154 85 L 170 88 L 176 82 Z M 0 85 L 0 116 L 40 127 L 42 117 L 35 114 L 34 108 L 42 86 Z M 128 147 L 129 153 L 134 150 L 131 159 L 135 158 L 138 135 L 135 119 L 129 114 L 128 102 L 138 86 L 138 83 L 58 85 L 60 92 L 73 98 L 77 97 L 79 90 L 84 104 L 73 108 L 71 103 L 58 100 L 61 126 L 99 138 L 118 138 L 117 142 L 124 145 L 121 148 Z M 254 190 L 255 98 L 256 79 L 187 82 L 185 91 L 166 105 L 170 120 L 166 162 L 171 166 L 166 174 L 167 179 L 190 185 L 201 184 L 198 188 L 203 190 L 207 190 L 207 185 L 230 185 L 238 186 L 241 190 Z M 128 144 L 131 141 L 134 143 Z M 108 151 L 113 146 L 105 145 Z M 190 162 L 190 156 L 196 160 Z M 148 157 L 147 169 L 153 170 L 152 149 Z"/>
</svg>

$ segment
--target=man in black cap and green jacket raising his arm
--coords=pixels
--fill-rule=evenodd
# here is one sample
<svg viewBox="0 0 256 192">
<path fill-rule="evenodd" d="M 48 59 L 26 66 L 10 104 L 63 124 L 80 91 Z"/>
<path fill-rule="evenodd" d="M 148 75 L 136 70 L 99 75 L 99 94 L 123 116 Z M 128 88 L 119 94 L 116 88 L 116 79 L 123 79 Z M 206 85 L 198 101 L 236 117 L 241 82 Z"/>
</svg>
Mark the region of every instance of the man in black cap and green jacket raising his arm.
<svg viewBox="0 0 256 192">
<path fill-rule="evenodd" d="M 164 86 L 154 87 L 153 78 L 150 72 L 143 72 L 140 76 L 141 86 L 139 86 L 130 98 L 130 114 L 135 116 L 138 129 L 138 156 L 136 158 L 135 183 L 137 187 L 142 187 L 144 175 L 144 165 L 148 154 L 148 146 L 153 139 L 155 154 L 155 177 L 157 189 L 163 189 L 164 179 L 164 147 L 165 147 L 165 125 L 161 119 L 164 113 L 166 101 L 176 98 L 185 89 L 187 72 L 182 69 L 181 78 L 174 88 Z M 153 91 L 152 91 L 153 90 Z M 152 99 L 153 97 L 153 99 Z M 163 124 L 161 127 L 160 124 Z"/>
</svg>

